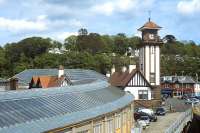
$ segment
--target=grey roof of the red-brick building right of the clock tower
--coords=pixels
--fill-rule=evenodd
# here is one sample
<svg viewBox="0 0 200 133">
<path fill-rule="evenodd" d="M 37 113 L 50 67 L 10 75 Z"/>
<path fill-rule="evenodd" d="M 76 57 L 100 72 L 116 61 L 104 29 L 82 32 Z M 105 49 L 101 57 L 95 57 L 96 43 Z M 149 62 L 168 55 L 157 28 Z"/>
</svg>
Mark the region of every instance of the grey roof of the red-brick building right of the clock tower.
<svg viewBox="0 0 200 133">
<path fill-rule="evenodd" d="M 184 83 L 195 84 L 195 81 L 190 76 L 163 76 L 161 77 L 161 83 Z"/>
</svg>

